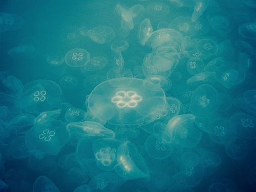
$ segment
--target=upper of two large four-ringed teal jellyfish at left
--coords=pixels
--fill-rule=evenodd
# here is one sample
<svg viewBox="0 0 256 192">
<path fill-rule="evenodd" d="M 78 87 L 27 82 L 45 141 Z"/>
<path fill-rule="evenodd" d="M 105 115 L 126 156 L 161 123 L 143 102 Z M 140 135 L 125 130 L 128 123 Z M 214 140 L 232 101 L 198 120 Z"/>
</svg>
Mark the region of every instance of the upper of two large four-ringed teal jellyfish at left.
<svg viewBox="0 0 256 192">
<path fill-rule="evenodd" d="M 22 106 L 26 112 L 42 113 L 58 104 L 62 91 L 57 83 L 50 80 L 35 80 L 24 86 Z"/>
</svg>

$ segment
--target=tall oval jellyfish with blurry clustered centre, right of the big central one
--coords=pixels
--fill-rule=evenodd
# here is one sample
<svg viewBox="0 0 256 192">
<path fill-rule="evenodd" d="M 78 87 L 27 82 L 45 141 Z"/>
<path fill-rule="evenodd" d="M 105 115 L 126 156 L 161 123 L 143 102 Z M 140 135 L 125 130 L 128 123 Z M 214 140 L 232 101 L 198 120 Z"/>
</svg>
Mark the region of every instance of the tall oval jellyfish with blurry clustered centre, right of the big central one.
<svg viewBox="0 0 256 192">
<path fill-rule="evenodd" d="M 208 84 L 199 86 L 190 99 L 190 111 L 198 118 L 206 118 L 216 111 L 218 92 Z"/>
</svg>

